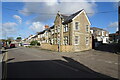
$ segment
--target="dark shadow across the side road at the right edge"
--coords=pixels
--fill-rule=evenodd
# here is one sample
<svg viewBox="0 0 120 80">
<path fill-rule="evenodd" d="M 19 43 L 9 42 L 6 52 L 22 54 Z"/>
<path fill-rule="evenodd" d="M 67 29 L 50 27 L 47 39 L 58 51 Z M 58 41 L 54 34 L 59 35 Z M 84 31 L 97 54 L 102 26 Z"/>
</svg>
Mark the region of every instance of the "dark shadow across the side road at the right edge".
<svg viewBox="0 0 120 80">
<path fill-rule="evenodd" d="M 120 53 L 120 44 L 103 44 L 95 48 L 95 50 L 110 52 L 110 53 Z"/>
</svg>

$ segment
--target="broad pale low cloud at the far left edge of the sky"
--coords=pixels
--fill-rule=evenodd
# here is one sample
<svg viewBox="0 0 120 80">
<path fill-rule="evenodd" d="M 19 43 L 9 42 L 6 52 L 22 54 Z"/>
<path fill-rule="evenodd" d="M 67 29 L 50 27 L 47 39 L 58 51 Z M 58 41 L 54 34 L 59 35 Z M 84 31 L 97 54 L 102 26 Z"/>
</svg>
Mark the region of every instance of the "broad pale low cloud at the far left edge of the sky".
<svg viewBox="0 0 120 80">
<path fill-rule="evenodd" d="M 14 22 L 6 22 L 2 24 L 2 35 L 11 35 L 17 32 L 17 24 Z"/>
</svg>

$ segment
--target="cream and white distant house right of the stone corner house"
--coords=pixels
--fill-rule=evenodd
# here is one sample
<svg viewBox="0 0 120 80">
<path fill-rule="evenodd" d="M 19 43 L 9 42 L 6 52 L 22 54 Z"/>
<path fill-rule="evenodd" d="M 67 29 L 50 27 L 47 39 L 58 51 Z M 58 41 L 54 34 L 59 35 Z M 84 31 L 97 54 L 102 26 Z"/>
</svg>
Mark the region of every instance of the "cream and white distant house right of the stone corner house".
<svg viewBox="0 0 120 80">
<path fill-rule="evenodd" d="M 96 47 L 101 43 L 109 43 L 108 31 L 97 27 L 91 27 L 90 32 L 93 36 L 93 40 L 94 40 L 93 43 L 95 44 Z"/>
</svg>

